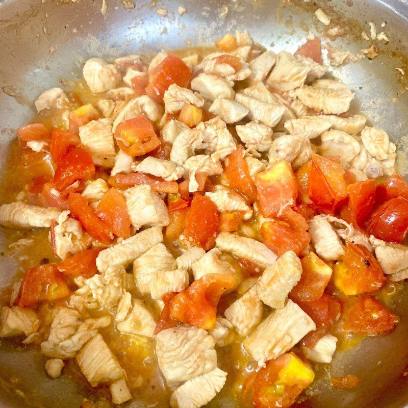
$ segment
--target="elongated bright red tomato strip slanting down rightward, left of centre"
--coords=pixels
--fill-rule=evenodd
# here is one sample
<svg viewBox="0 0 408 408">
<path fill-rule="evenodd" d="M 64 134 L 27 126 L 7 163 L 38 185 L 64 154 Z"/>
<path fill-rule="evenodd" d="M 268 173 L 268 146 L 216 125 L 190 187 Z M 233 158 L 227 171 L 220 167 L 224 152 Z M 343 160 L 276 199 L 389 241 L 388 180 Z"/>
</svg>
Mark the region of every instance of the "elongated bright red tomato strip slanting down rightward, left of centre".
<svg viewBox="0 0 408 408">
<path fill-rule="evenodd" d="M 112 229 L 108 223 L 101 220 L 87 200 L 79 193 L 70 193 L 68 197 L 69 211 L 81 222 L 84 230 L 94 239 L 109 244 L 113 239 Z"/>
</svg>

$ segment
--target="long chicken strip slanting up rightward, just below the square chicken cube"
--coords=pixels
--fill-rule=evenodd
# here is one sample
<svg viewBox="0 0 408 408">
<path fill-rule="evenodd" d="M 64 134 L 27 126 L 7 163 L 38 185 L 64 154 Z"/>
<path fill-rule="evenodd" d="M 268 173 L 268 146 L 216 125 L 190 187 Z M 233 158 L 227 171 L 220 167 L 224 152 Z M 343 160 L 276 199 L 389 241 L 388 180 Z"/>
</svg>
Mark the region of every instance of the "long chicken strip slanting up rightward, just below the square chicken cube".
<svg viewBox="0 0 408 408">
<path fill-rule="evenodd" d="M 152 246 L 163 242 L 161 227 L 152 227 L 135 234 L 133 237 L 106 248 L 99 252 L 96 267 L 99 272 L 105 272 L 109 266 L 123 265 L 126 267 Z"/>
</svg>

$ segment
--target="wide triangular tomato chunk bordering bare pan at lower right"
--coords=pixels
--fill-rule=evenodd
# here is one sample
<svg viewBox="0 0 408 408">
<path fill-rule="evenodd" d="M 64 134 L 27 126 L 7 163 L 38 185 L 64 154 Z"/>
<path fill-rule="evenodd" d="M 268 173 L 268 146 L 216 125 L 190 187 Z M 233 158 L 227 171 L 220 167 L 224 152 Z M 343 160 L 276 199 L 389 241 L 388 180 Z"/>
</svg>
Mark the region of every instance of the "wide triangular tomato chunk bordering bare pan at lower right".
<svg viewBox="0 0 408 408">
<path fill-rule="evenodd" d="M 343 329 L 349 333 L 378 335 L 393 330 L 398 321 L 398 316 L 378 300 L 363 295 L 344 312 Z"/>
</svg>

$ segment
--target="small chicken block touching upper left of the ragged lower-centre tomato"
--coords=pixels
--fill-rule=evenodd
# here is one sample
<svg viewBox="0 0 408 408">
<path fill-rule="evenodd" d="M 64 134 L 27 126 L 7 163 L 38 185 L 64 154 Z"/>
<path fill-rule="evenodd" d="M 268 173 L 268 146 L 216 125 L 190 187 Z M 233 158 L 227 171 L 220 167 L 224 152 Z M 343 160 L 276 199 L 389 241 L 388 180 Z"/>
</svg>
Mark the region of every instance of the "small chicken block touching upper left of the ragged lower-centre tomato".
<svg viewBox="0 0 408 408">
<path fill-rule="evenodd" d="M 154 272 L 150 280 L 150 295 L 152 299 L 161 299 L 165 293 L 187 289 L 189 284 L 189 274 L 185 269 Z"/>
</svg>

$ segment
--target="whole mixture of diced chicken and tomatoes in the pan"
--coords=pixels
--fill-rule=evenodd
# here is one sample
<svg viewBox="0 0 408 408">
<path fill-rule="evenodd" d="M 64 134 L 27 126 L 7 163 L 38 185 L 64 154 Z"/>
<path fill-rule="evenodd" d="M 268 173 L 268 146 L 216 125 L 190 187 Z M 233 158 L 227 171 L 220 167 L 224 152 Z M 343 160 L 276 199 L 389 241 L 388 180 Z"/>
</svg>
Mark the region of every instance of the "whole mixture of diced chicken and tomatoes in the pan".
<svg viewBox="0 0 408 408">
<path fill-rule="evenodd" d="M 114 404 L 289 407 L 341 339 L 398 324 L 395 144 L 351 113 L 319 38 L 275 54 L 237 32 L 209 52 L 91 58 L 12 146 L 0 224 L 31 258 L 0 336 Z"/>
</svg>

